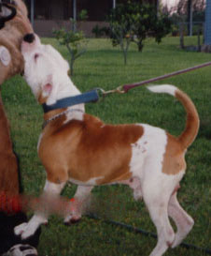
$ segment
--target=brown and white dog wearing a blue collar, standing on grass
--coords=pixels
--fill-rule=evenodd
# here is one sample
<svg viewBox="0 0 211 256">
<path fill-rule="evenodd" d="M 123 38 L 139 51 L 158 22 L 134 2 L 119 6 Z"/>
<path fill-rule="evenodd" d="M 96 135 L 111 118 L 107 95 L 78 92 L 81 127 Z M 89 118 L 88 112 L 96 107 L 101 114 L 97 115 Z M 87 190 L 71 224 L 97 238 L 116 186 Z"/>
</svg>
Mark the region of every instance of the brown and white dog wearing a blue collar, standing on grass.
<svg viewBox="0 0 211 256">
<path fill-rule="evenodd" d="M 24 77 L 39 103 L 79 94 L 67 75 L 68 66 L 52 47 L 22 42 Z M 44 114 L 49 120 L 38 143 L 38 156 L 46 172 L 45 193 L 59 195 L 67 182 L 77 184 L 75 202 L 64 219 L 81 217 L 78 205 L 98 185 L 126 184 L 134 189 L 134 199 L 143 197 L 157 228 L 158 243 L 150 256 L 175 248 L 193 226 L 193 219 L 176 199 L 176 190 L 185 170 L 185 153 L 194 141 L 198 113 L 190 98 L 173 85 L 150 86 L 150 91 L 167 93 L 183 104 L 188 116 L 186 128 L 177 138 L 162 128 L 146 124 L 106 125 L 84 112 L 84 105 L 57 109 Z M 174 232 L 169 217 L 176 222 Z M 28 223 L 16 227 L 24 239 L 35 233 L 48 217 L 36 212 Z"/>
</svg>

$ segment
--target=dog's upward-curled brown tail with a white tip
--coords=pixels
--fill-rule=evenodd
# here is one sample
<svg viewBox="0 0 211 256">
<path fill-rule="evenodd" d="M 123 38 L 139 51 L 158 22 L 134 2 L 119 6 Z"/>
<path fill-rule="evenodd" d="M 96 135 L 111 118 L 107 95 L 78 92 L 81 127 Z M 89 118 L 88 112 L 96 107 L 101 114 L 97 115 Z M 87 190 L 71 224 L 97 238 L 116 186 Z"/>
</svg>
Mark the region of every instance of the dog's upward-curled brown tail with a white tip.
<svg viewBox="0 0 211 256">
<path fill-rule="evenodd" d="M 184 106 L 187 112 L 186 128 L 182 134 L 178 136 L 178 141 L 184 148 L 188 148 L 195 140 L 199 130 L 199 115 L 197 110 L 187 94 L 176 88 L 174 85 L 152 85 L 148 86 L 148 90 L 154 93 L 166 93 L 177 98 Z"/>
</svg>

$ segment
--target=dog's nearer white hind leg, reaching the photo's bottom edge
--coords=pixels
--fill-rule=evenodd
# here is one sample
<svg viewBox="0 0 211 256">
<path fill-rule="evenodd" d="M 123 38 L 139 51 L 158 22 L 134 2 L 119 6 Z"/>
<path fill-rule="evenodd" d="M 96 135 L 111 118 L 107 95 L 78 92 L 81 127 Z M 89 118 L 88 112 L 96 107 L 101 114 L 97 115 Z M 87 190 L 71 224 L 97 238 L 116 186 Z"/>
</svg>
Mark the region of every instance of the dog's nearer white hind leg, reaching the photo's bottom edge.
<svg viewBox="0 0 211 256">
<path fill-rule="evenodd" d="M 171 192 L 162 189 L 163 184 L 157 186 L 143 186 L 143 198 L 148 207 L 150 218 L 157 229 L 158 242 L 150 256 L 161 256 L 174 240 L 175 233 L 168 218 L 168 202 Z"/>
</svg>

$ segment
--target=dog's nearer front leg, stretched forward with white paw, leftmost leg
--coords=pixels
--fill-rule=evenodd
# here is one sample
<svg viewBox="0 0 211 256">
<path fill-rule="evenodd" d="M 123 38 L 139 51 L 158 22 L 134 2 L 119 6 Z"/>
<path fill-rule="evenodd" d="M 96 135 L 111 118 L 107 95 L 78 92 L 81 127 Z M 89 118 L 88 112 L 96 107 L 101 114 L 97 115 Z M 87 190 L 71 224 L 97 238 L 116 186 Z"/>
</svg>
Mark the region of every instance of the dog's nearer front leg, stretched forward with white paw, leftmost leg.
<svg viewBox="0 0 211 256">
<path fill-rule="evenodd" d="M 16 226 L 14 229 L 15 234 L 21 235 L 21 239 L 26 239 L 33 235 L 40 225 L 47 224 L 50 209 L 48 202 L 52 201 L 52 198 L 58 197 L 63 187 L 64 183 L 55 184 L 47 180 L 40 203 L 38 203 L 37 210 L 35 211 L 35 215 L 29 220 L 29 222 Z"/>
</svg>

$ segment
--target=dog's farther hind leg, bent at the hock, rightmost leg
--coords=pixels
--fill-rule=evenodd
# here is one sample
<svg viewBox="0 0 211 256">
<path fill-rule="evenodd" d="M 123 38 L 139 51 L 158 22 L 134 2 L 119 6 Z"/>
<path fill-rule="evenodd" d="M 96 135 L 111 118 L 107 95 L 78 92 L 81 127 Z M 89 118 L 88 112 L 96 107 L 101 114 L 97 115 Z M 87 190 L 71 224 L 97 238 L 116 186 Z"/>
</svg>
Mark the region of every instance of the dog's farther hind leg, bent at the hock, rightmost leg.
<svg viewBox="0 0 211 256">
<path fill-rule="evenodd" d="M 190 230 L 194 224 L 194 220 L 178 203 L 176 192 L 174 192 L 170 198 L 168 204 L 168 214 L 176 222 L 176 240 L 172 245 L 172 248 L 175 248 L 181 243 L 187 234 L 190 233 Z"/>
</svg>

